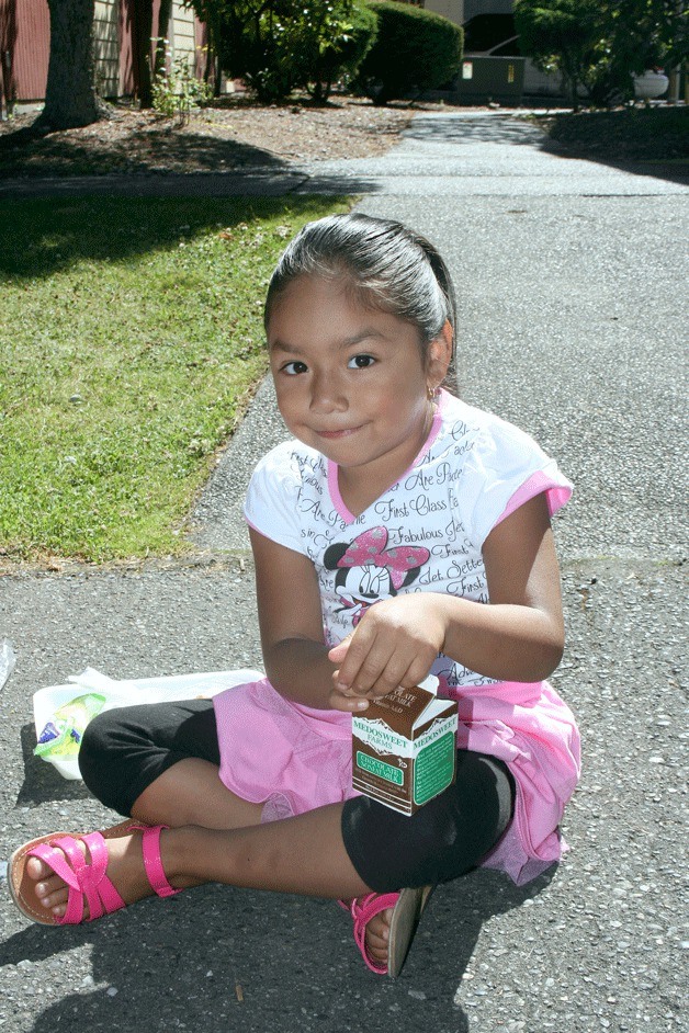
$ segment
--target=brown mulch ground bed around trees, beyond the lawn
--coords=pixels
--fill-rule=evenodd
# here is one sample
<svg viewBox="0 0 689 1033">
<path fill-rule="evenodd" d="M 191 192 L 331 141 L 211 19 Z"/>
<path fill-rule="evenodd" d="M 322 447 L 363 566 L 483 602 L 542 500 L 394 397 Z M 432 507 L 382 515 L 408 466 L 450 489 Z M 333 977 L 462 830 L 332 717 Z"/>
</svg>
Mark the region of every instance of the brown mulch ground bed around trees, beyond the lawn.
<svg viewBox="0 0 689 1033">
<path fill-rule="evenodd" d="M 179 126 L 150 111 L 117 106 L 110 118 L 36 136 L 35 115 L 0 123 L 0 175 L 84 175 L 109 172 L 225 172 L 325 158 L 382 155 L 417 111 L 434 104 L 376 107 L 335 98 L 327 106 L 261 107 L 242 99 L 195 112 Z"/>
</svg>

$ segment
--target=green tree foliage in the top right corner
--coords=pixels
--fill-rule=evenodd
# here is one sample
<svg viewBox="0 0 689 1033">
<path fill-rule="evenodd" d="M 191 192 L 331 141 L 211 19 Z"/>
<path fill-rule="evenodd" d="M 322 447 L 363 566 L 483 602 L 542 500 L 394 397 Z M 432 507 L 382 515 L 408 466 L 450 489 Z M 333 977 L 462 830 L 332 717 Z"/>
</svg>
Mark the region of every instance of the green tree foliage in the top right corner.
<svg viewBox="0 0 689 1033">
<path fill-rule="evenodd" d="M 634 73 L 687 59 L 680 0 L 515 0 L 521 50 L 558 71 L 574 107 L 584 90 L 595 104 L 633 95 Z"/>
</svg>

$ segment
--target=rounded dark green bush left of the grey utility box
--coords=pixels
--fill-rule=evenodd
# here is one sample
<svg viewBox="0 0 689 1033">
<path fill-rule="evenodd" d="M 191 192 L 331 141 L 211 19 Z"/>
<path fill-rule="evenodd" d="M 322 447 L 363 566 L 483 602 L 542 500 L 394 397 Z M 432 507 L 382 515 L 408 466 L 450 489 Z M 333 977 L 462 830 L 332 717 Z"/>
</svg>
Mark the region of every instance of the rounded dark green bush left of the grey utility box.
<svg viewBox="0 0 689 1033">
<path fill-rule="evenodd" d="M 460 70 L 463 34 L 454 25 L 422 8 L 396 0 L 369 0 L 379 19 L 379 32 L 364 57 L 357 86 L 376 104 L 417 90 L 433 90 Z"/>
</svg>

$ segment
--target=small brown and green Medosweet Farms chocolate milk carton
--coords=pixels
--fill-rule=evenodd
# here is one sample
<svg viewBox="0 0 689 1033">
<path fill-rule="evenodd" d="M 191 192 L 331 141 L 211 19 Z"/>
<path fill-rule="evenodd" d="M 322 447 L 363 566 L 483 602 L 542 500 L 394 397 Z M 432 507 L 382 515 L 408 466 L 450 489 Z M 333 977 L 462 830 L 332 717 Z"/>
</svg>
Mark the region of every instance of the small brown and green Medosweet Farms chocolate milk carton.
<svg viewBox="0 0 689 1033">
<path fill-rule="evenodd" d="M 458 705 L 437 691 L 429 674 L 352 716 L 353 787 L 400 814 L 413 815 L 454 782 Z"/>
</svg>

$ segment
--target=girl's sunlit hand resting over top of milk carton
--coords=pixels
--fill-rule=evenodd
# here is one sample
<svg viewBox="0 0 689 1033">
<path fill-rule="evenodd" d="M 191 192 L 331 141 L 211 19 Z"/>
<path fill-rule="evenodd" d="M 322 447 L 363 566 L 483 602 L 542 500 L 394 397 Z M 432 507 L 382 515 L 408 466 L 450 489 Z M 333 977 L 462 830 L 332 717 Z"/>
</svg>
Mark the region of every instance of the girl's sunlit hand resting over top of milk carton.
<svg viewBox="0 0 689 1033">
<path fill-rule="evenodd" d="M 413 592 L 371 606 L 357 629 L 328 654 L 339 665 L 330 705 L 351 713 L 365 710 L 361 703 L 353 707 L 352 697 L 374 700 L 400 685 L 418 685 L 442 651 L 443 602 L 432 592 Z"/>
</svg>

